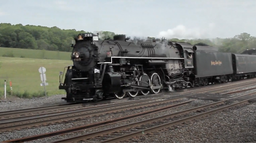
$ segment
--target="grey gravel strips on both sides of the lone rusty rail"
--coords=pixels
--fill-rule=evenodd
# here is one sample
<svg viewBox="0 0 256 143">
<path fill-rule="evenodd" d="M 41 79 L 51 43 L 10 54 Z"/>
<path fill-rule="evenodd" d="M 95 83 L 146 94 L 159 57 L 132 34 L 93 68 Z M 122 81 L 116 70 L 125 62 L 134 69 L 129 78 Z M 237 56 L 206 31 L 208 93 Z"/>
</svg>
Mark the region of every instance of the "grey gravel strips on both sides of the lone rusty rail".
<svg viewBox="0 0 256 143">
<path fill-rule="evenodd" d="M 188 101 L 188 100 L 191 100 L 191 99 L 180 100 L 179 102 L 175 102 L 175 103 L 172 103 L 172 104 L 177 104 L 177 103 Z M 108 125 L 108 126 L 95 128 L 95 129 L 86 129 L 85 132 L 72 133 L 72 134 L 68 134 L 68 135 L 64 135 L 64 136 L 54 136 L 54 137 L 44 138 L 42 140 L 39 139 L 39 140 L 31 141 L 31 142 L 50 142 L 50 141 L 54 141 L 54 140 L 60 140 L 60 139 L 66 138 L 66 137 L 74 136 L 74 135 L 81 135 L 81 133 L 82 134 L 89 133 L 89 132 L 92 132 L 92 131 L 98 131 L 99 129 L 106 129 L 106 128 L 110 128 L 110 127 L 115 127 L 117 125 L 126 125 L 126 124 L 129 124 L 129 123 L 137 122 L 137 121 L 144 120 L 144 119 L 147 119 L 147 118 L 152 118 L 153 116 L 154 117 L 161 116 L 161 115 L 181 111 L 181 110 L 184 110 L 184 109 L 193 108 L 193 107 L 196 107 L 196 106 L 209 104 L 211 102 L 212 101 L 196 100 L 196 101 L 192 101 L 188 105 L 181 106 L 181 107 L 178 107 L 178 108 L 174 108 L 172 110 L 166 110 L 166 111 L 163 111 L 163 112 L 160 112 L 160 113 L 157 113 L 157 114 L 152 114 L 152 115 L 149 115 L 148 117 L 145 116 L 145 117 L 142 117 L 142 118 L 141 117 L 140 118 L 134 118 L 132 120 L 127 120 L 125 122 L 120 122 L 118 124 L 112 124 L 112 125 Z M 137 114 L 137 113 L 144 112 L 144 111 L 149 111 L 149 110 L 153 110 L 153 109 L 157 109 L 157 108 L 162 108 L 162 107 L 165 107 L 165 106 L 168 106 L 168 104 L 158 105 L 158 106 L 148 107 L 148 108 L 143 108 L 143 109 L 138 109 L 138 110 L 131 110 L 129 112 L 124 112 L 124 113 L 109 114 L 109 115 L 104 115 L 104 116 L 100 116 L 100 117 L 88 117 L 88 118 L 86 118 L 86 120 L 76 121 L 76 122 L 73 122 L 73 123 L 37 127 L 37 128 L 33 128 L 33 129 L 25 129 L 25 130 L 22 130 L 22 131 L 3 132 L 2 134 L 0 134 L 0 136 L 2 136 L 0 138 L 0 141 L 11 140 L 11 139 L 20 138 L 20 137 L 23 137 L 23 136 L 37 135 L 37 134 L 42 134 L 42 133 L 47 133 L 47 132 L 58 131 L 58 130 L 61 130 L 61 129 L 67 129 L 67 128 L 71 128 L 71 127 L 102 122 L 102 121 L 106 121 L 106 120 L 109 120 L 109 119 L 119 118 L 119 117 L 128 116 L 128 115 L 132 115 L 132 114 Z"/>
</svg>

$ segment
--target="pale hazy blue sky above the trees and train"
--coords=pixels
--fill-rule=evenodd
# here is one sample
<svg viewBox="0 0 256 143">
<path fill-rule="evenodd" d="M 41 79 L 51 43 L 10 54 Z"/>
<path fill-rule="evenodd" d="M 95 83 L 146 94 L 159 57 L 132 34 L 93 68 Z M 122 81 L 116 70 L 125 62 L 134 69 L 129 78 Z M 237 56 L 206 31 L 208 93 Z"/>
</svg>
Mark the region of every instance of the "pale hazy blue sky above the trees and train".
<svg viewBox="0 0 256 143">
<path fill-rule="evenodd" d="M 0 23 L 138 37 L 256 36 L 256 0 L 0 0 Z"/>
</svg>

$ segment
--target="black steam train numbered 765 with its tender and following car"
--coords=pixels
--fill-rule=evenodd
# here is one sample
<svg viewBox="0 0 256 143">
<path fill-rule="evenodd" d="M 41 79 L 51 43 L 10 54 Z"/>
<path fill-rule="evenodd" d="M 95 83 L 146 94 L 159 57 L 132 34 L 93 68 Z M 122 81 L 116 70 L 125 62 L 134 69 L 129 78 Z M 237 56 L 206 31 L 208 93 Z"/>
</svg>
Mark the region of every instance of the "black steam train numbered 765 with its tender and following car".
<svg viewBox="0 0 256 143">
<path fill-rule="evenodd" d="M 64 83 L 60 73 L 59 89 L 67 92 L 67 102 L 121 99 L 256 76 L 255 55 L 218 52 L 208 45 L 125 35 L 99 40 L 95 33 L 74 39 L 73 65 L 65 67 Z"/>
</svg>

